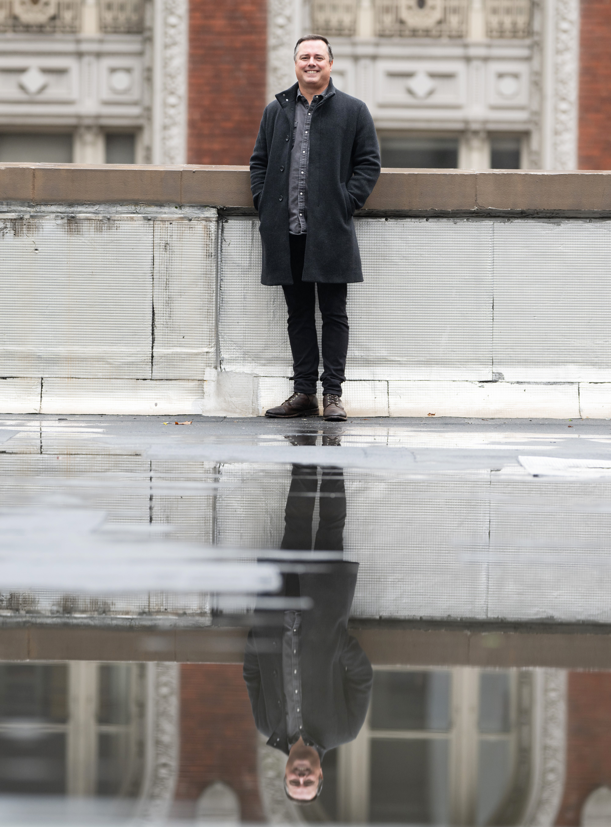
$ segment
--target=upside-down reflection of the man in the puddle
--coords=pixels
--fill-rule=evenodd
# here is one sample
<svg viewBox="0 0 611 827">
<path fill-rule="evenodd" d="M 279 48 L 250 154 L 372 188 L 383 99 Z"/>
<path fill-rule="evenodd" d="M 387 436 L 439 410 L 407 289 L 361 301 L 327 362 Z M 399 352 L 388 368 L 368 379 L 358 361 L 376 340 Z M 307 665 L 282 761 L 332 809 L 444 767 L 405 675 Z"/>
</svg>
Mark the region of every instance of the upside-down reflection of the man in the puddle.
<svg viewBox="0 0 611 827">
<path fill-rule="evenodd" d="M 282 548 L 311 550 L 317 484 L 316 466 L 293 466 Z M 314 550 L 343 551 L 346 491 L 340 468 L 322 468 L 319 514 Z M 347 632 L 358 563 L 316 564 L 299 557 L 293 567 L 284 576 L 284 595 L 309 598 L 313 607 L 268 613 L 265 619 L 256 613 L 261 625 L 248 636 L 244 679 L 257 729 L 289 755 L 284 791 L 307 802 L 322 791 L 324 754 L 355 739 L 365 721 L 372 671 Z"/>
</svg>

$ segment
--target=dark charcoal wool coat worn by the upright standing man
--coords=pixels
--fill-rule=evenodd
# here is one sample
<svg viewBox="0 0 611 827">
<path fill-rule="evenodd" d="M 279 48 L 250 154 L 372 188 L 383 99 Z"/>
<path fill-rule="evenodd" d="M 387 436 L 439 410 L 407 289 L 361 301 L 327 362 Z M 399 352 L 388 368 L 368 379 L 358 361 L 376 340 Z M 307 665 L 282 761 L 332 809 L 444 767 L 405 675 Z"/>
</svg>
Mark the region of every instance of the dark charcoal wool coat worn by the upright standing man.
<svg viewBox="0 0 611 827">
<path fill-rule="evenodd" d="M 263 245 L 262 284 L 293 284 L 289 251 L 289 168 L 298 84 L 263 112 L 251 157 L 251 190 Z M 314 109 L 308 164 L 308 240 L 303 281 L 362 281 L 352 216 L 379 177 L 374 122 L 363 101 L 329 82 Z"/>
</svg>

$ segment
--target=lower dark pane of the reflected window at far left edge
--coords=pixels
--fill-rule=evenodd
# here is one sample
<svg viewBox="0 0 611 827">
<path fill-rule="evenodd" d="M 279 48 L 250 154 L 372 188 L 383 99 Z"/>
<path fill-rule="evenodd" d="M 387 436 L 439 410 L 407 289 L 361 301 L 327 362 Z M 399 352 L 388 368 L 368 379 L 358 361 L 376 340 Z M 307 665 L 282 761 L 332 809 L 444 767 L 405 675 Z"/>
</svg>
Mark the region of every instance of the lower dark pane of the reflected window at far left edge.
<svg viewBox="0 0 611 827">
<path fill-rule="evenodd" d="M 65 734 L 36 724 L 0 735 L 0 792 L 61 795 L 65 792 Z"/>
</svg>

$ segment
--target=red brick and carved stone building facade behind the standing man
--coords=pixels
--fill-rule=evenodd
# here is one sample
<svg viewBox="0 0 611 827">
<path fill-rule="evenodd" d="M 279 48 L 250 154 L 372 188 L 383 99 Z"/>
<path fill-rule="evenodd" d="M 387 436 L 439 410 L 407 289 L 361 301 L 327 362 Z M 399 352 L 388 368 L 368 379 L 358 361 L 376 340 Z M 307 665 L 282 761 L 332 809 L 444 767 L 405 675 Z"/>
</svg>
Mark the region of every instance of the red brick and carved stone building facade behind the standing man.
<svg viewBox="0 0 611 827">
<path fill-rule="evenodd" d="M 604 169 L 609 27 L 595 0 L 2 0 L 0 161 L 246 163 L 316 30 L 384 165 Z"/>
</svg>

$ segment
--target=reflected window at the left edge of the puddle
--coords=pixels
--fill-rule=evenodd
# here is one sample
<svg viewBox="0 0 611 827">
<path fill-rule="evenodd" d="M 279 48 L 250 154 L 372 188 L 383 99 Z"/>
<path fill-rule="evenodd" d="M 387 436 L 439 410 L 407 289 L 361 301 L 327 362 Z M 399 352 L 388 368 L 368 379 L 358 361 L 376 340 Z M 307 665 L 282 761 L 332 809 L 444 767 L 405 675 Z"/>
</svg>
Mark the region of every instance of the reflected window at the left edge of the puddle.
<svg viewBox="0 0 611 827">
<path fill-rule="evenodd" d="M 0 792 L 136 796 L 141 665 L 0 664 Z"/>
</svg>

